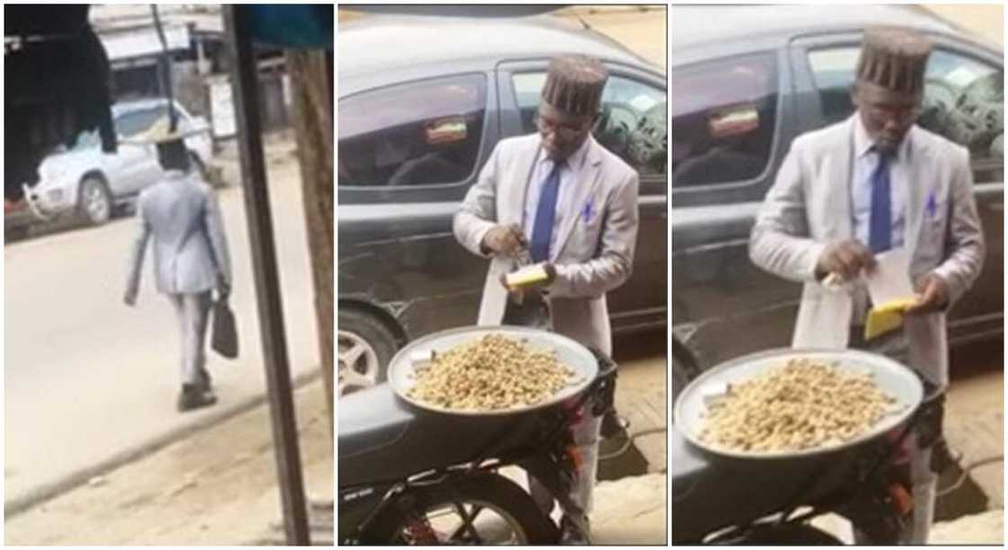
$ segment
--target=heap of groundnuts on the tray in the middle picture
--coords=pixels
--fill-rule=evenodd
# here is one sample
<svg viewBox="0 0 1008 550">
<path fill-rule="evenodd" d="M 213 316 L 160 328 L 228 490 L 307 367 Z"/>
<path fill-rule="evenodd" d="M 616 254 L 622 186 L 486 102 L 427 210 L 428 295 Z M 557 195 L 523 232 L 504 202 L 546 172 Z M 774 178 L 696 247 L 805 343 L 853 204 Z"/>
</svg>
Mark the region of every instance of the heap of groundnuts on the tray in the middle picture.
<svg viewBox="0 0 1008 550">
<path fill-rule="evenodd" d="M 534 352 L 524 340 L 487 334 L 417 368 L 408 395 L 448 409 L 507 409 L 549 398 L 572 384 L 574 375 L 555 352 Z"/>
</svg>

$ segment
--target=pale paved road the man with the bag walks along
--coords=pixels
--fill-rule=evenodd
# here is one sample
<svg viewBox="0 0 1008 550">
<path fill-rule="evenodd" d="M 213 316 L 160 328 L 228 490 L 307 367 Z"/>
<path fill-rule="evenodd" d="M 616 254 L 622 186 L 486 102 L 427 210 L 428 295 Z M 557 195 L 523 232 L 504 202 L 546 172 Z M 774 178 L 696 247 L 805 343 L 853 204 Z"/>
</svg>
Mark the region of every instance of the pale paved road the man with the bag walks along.
<svg viewBox="0 0 1008 550">
<path fill-rule="evenodd" d="M 300 183 L 292 155 L 269 164 L 296 375 L 319 365 Z M 170 305 L 153 290 L 149 256 L 137 307 L 122 304 L 131 219 L 4 249 L 6 503 L 265 392 L 240 188 L 221 191 L 220 200 L 231 242 L 242 358 L 211 357 L 221 403 L 204 411 L 174 410 L 177 328 Z"/>
</svg>

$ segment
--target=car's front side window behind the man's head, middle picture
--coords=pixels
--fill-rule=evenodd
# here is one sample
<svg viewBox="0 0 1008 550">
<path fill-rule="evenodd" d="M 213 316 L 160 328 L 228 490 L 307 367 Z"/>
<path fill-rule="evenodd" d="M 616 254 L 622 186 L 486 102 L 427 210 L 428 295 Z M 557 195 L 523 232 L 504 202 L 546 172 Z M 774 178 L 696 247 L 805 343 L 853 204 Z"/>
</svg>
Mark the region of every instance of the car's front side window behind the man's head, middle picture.
<svg viewBox="0 0 1008 550">
<path fill-rule="evenodd" d="M 546 83 L 543 72 L 511 76 L 525 133 L 536 132 L 534 116 Z M 665 91 L 613 75 L 602 93 L 602 114 L 595 139 L 630 164 L 640 175 L 664 175 L 668 157 Z"/>
</svg>

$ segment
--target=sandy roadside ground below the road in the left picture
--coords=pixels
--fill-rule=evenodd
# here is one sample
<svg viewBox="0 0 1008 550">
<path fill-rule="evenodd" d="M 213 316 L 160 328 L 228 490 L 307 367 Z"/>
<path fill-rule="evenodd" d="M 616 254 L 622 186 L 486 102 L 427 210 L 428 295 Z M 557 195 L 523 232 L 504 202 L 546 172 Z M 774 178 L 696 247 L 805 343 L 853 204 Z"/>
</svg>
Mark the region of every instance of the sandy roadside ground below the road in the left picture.
<svg viewBox="0 0 1008 550">
<path fill-rule="evenodd" d="M 333 498 L 333 446 L 319 383 L 294 392 L 305 493 Z M 266 405 L 179 439 L 7 518 L 7 545 L 253 545 L 280 521 Z M 314 511 L 312 542 L 333 542 L 332 511 Z"/>
</svg>

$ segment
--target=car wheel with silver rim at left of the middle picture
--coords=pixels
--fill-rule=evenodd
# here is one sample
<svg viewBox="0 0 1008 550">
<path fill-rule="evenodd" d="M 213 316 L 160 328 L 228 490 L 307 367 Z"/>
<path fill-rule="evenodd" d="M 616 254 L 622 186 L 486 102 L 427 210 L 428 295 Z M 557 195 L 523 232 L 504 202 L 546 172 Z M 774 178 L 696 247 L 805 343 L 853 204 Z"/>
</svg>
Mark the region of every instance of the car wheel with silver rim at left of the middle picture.
<svg viewBox="0 0 1008 550">
<path fill-rule="evenodd" d="M 398 350 L 395 335 L 375 315 L 341 307 L 337 326 L 340 396 L 385 382 Z"/>
</svg>

